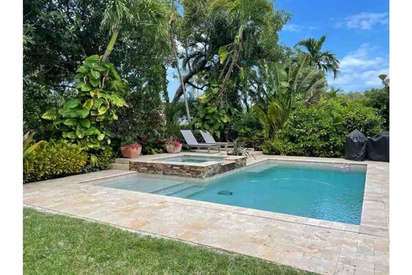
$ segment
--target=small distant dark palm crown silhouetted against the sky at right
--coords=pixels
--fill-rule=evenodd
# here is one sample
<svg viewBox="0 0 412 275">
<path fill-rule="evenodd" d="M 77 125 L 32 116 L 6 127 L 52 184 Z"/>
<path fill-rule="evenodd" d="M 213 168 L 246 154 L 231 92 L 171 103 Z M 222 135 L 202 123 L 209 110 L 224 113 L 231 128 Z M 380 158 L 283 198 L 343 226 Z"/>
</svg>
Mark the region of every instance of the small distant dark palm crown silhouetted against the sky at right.
<svg viewBox="0 0 412 275">
<path fill-rule="evenodd" d="M 319 40 L 314 38 L 299 41 L 296 46 L 300 46 L 307 50 L 311 57 L 311 65 L 316 65 L 318 70 L 325 73 L 333 72 L 333 79 L 336 79 L 339 74 L 340 62 L 330 50 L 322 51 L 322 45 L 325 42 L 326 35 L 322 35 Z"/>
</svg>

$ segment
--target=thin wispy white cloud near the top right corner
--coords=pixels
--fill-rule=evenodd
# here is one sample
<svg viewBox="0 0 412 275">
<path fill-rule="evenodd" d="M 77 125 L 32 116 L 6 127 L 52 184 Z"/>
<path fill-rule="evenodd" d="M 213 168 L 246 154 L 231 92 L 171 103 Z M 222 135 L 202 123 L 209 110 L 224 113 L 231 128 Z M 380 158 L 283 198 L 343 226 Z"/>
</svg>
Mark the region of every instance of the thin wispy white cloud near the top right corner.
<svg viewBox="0 0 412 275">
<path fill-rule="evenodd" d="M 388 12 L 361 12 L 360 14 L 345 17 L 342 22 L 336 23 L 336 27 L 346 27 L 348 29 L 371 30 L 376 25 L 389 24 Z"/>
</svg>

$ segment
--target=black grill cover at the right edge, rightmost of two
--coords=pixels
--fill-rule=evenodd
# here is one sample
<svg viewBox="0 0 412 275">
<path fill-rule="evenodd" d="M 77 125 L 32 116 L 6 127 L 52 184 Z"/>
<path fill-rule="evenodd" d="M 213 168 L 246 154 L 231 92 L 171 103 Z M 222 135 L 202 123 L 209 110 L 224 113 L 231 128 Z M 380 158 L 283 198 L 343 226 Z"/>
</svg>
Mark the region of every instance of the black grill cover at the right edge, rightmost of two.
<svg viewBox="0 0 412 275">
<path fill-rule="evenodd" d="M 368 160 L 389 163 L 389 132 L 372 136 L 368 141 Z"/>
</svg>

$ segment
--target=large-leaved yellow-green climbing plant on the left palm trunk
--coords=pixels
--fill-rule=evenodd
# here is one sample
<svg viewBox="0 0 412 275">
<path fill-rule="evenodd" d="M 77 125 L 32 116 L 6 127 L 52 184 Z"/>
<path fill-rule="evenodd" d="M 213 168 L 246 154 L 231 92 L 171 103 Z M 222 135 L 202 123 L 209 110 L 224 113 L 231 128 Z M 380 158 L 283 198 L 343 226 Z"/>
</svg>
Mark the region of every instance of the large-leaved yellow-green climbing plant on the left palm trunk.
<svg viewBox="0 0 412 275">
<path fill-rule="evenodd" d="M 64 139 L 99 150 L 111 143 L 107 125 L 118 119 L 116 108 L 127 107 L 123 99 L 127 81 L 97 54 L 87 57 L 76 72 L 76 97 L 60 110 L 48 110 L 42 118 L 53 121 Z"/>
</svg>

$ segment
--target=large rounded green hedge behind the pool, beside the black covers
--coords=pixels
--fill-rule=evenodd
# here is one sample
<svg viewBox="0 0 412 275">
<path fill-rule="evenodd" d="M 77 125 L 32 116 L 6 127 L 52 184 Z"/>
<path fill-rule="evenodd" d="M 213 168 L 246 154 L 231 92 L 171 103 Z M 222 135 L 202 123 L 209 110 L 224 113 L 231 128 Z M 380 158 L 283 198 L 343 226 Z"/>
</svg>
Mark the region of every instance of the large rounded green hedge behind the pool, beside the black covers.
<svg viewBox="0 0 412 275">
<path fill-rule="evenodd" d="M 262 150 L 264 154 L 342 157 L 345 139 L 356 129 L 366 136 L 382 132 L 377 110 L 356 101 L 331 100 L 309 108 L 298 105 Z"/>
</svg>

